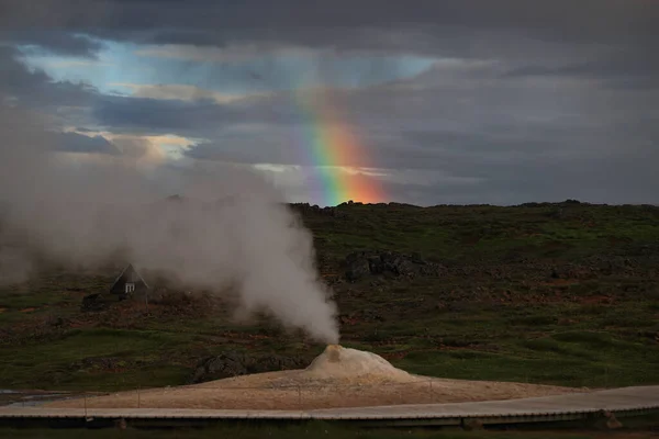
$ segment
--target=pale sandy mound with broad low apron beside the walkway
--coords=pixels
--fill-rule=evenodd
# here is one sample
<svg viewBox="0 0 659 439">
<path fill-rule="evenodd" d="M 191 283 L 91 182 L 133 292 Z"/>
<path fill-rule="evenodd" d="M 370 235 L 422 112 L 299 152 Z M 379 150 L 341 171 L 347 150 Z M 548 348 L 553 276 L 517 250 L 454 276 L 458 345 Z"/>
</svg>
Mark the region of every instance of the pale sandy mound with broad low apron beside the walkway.
<svg viewBox="0 0 659 439">
<path fill-rule="evenodd" d="M 371 352 L 330 345 L 303 370 L 52 403 L 56 407 L 310 409 L 460 403 L 583 392 L 551 385 L 413 375 Z"/>
</svg>

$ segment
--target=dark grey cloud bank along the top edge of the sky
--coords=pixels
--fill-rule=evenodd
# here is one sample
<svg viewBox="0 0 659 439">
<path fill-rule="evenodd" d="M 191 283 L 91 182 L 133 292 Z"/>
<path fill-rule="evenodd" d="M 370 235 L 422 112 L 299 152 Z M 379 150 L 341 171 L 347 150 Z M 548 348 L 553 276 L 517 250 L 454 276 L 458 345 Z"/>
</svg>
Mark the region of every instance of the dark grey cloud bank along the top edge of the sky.
<svg viewBox="0 0 659 439">
<path fill-rule="evenodd" d="M 648 0 L 35 0 L 10 2 L 0 16 L 0 37 L 74 55 L 100 48 L 87 34 L 489 58 L 507 61 L 509 76 L 590 76 L 617 88 L 655 87 L 659 77 L 659 2 Z"/>
</svg>

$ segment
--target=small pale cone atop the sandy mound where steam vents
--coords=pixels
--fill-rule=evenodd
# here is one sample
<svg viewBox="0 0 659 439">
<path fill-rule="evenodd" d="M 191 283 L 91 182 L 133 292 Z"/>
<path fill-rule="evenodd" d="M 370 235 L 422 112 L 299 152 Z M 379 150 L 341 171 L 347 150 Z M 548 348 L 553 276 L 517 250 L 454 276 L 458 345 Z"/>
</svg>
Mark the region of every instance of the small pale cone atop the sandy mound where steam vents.
<svg viewBox="0 0 659 439">
<path fill-rule="evenodd" d="M 328 345 L 304 370 L 311 379 L 410 381 L 415 376 L 394 368 L 382 357 L 364 350 Z"/>
</svg>

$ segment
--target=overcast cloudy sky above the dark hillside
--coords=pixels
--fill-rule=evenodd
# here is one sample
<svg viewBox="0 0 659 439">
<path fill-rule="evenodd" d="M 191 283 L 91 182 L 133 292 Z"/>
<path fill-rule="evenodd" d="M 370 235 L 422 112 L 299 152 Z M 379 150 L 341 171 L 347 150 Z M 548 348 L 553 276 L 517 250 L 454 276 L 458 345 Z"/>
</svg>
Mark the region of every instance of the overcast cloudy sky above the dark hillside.
<svg viewBox="0 0 659 439">
<path fill-rule="evenodd" d="M 365 201 L 657 204 L 657 23 L 655 0 L 0 0 L 0 114 L 72 160 L 254 167 L 312 204 L 327 172 Z M 319 123 L 355 153 L 314 159 Z"/>
</svg>

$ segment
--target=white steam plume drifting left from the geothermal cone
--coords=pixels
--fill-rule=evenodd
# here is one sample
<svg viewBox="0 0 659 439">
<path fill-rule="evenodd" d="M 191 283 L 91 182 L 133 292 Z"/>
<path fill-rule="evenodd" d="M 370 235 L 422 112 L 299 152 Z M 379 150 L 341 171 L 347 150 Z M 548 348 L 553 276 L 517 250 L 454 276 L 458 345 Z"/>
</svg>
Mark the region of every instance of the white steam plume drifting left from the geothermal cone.
<svg viewBox="0 0 659 439">
<path fill-rule="evenodd" d="M 72 166 L 67 155 L 51 153 L 43 126 L 34 114 L 0 104 L 4 237 L 22 233 L 49 257 L 77 267 L 125 249 L 136 266 L 190 286 L 219 292 L 234 283 L 246 309 L 338 342 L 336 308 L 317 280 L 311 236 L 263 179 L 231 166 L 215 172 L 161 166 L 144 173 L 134 161 L 100 155 Z M 172 181 L 185 184 L 182 201 L 164 200 L 159 185 Z M 20 256 L 11 259 L 14 266 L 25 261 Z"/>
</svg>

